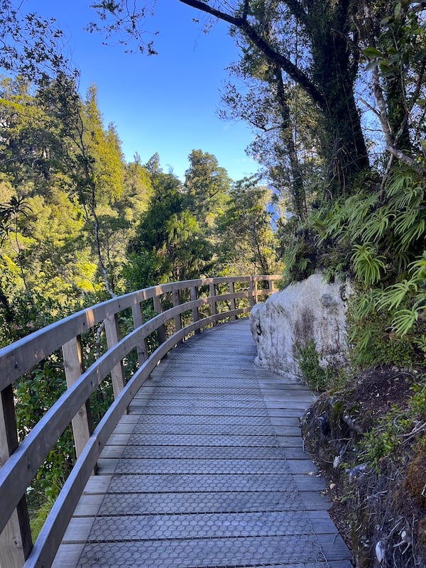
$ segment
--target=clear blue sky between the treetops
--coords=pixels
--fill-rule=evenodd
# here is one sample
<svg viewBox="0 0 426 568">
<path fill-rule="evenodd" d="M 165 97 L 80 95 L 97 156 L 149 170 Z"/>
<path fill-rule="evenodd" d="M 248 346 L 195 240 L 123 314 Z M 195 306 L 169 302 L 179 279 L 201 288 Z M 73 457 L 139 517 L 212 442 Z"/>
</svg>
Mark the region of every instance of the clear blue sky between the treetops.
<svg viewBox="0 0 426 568">
<path fill-rule="evenodd" d="M 217 23 L 205 34 L 192 18 L 205 16 L 178 0 L 158 0 L 147 28 L 159 55 L 126 54 L 120 45 L 104 46 L 102 37 L 84 31 L 94 19 L 93 0 L 26 0 L 24 7 L 54 17 L 67 37 L 66 53 L 80 69 L 80 92 L 99 89 L 99 107 L 107 125 L 113 122 L 126 160 L 135 152 L 145 163 L 158 152 L 164 170 L 180 176 L 193 148 L 214 154 L 234 180 L 256 172 L 258 165 L 244 148 L 253 133 L 242 121 L 217 118 L 219 89 L 225 67 L 238 59 L 228 27 Z M 150 39 L 151 35 L 147 34 Z"/>
</svg>

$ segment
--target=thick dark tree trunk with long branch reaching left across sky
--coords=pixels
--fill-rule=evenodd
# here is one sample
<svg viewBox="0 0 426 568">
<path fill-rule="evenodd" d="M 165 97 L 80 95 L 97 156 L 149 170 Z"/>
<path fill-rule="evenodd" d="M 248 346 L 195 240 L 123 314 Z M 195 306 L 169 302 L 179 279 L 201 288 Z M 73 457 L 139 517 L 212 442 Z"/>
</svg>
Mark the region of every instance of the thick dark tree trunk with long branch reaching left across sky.
<svg viewBox="0 0 426 568">
<path fill-rule="evenodd" d="M 295 65 L 279 44 L 271 42 L 249 18 L 251 3 L 239 9 L 222 11 L 202 0 L 180 0 L 239 29 L 246 40 L 256 45 L 267 60 L 278 65 L 319 107 L 324 116 L 322 154 L 329 166 L 329 193 L 332 197 L 351 191 L 359 173 L 369 168 L 361 119 L 354 99 L 358 52 L 351 44 L 351 18 L 358 7 L 354 0 L 316 0 L 300 3 L 285 1 L 290 13 L 310 39 L 312 68 L 305 72 Z M 227 3 L 225 3 L 227 4 Z M 233 12 L 233 13 L 232 13 Z M 260 22 L 261 23 L 261 22 Z M 293 54 L 297 60 L 297 53 Z"/>
</svg>

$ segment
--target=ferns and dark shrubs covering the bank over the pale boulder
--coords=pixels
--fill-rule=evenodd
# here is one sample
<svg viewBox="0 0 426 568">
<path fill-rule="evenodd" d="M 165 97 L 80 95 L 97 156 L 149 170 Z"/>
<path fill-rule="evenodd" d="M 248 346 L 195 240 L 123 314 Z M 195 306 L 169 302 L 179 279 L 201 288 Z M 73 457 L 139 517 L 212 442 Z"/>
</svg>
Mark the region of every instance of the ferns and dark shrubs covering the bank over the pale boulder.
<svg viewBox="0 0 426 568">
<path fill-rule="evenodd" d="M 354 195 L 312 209 L 303 223 L 290 219 L 280 232 L 283 285 L 315 271 L 330 282 L 351 281 L 354 364 L 425 364 L 424 180 L 404 167 L 395 168 L 384 187 L 363 179 Z"/>
</svg>

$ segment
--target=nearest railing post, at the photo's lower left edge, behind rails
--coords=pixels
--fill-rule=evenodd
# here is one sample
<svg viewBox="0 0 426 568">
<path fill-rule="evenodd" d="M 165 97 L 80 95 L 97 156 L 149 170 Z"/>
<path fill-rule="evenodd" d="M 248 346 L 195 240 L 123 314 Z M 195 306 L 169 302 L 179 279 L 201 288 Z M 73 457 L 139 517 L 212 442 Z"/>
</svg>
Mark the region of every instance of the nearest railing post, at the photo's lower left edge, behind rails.
<svg viewBox="0 0 426 568">
<path fill-rule="evenodd" d="M 9 385 L 0 393 L 0 467 L 18 447 L 13 388 Z M 0 535 L 1 568 L 22 568 L 31 552 L 31 528 L 25 495 L 13 511 Z"/>
</svg>

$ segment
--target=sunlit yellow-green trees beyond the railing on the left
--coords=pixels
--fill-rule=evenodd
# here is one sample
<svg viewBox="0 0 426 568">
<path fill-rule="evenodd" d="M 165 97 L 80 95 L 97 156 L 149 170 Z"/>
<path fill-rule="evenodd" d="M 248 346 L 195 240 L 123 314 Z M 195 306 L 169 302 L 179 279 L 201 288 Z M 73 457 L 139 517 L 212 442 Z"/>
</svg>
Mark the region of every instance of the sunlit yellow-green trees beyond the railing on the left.
<svg viewBox="0 0 426 568">
<path fill-rule="evenodd" d="M 137 154 L 126 163 L 114 124 L 103 124 L 94 85 L 82 99 L 62 68 L 40 82 L 4 76 L 0 113 L 4 344 L 154 283 L 275 270 L 271 190 L 246 181 L 250 206 L 263 207 L 263 217 L 241 229 L 229 217 L 233 182 L 214 155 L 193 150 L 184 180 L 165 173 L 155 153 L 146 164 Z M 219 225 L 234 226 L 244 258 L 224 253 Z"/>
</svg>

